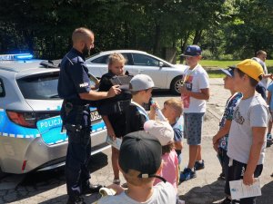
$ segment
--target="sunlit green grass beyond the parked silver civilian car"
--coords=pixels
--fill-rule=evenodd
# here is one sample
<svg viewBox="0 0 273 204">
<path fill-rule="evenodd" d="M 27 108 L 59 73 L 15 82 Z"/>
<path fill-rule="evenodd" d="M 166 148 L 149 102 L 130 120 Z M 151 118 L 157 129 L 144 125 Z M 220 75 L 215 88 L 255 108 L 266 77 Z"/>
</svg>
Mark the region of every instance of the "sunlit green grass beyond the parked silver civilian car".
<svg viewBox="0 0 273 204">
<path fill-rule="evenodd" d="M 219 69 L 226 69 L 230 65 L 235 65 L 240 61 L 217 61 L 217 60 L 202 60 L 200 64 L 206 69 L 209 78 L 223 78 L 225 74 Z M 267 60 L 268 73 L 273 73 L 273 60 Z"/>
</svg>

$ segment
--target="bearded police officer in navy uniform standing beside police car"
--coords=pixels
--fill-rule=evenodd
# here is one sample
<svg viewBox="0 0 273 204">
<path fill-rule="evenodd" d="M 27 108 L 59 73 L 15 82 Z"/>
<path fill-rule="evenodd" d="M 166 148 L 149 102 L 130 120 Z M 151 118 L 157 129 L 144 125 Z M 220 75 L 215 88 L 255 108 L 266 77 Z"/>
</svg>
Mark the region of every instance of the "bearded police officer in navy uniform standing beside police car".
<svg viewBox="0 0 273 204">
<path fill-rule="evenodd" d="M 58 81 L 58 94 L 64 99 L 61 117 L 68 135 L 66 153 L 67 204 L 84 204 L 81 194 L 97 192 L 102 186 L 89 182 L 87 164 L 91 154 L 90 101 L 114 97 L 120 89 L 113 86 L 108 92 L 90 89 L 85 56 L 94 47 L 94 34 L 77 28 L 72 34 L 73 48 L 63 58 Z"/>
</svg>

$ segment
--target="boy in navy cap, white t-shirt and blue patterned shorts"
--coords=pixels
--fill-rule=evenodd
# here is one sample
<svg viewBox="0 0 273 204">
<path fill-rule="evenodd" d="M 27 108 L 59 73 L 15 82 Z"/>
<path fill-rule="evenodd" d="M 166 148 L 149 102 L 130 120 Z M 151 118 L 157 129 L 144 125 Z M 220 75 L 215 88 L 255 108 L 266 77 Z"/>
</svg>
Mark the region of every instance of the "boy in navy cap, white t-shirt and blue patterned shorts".
<svg viewBox="0 0 273 204">
<path fill-rule="evenodd" d="M 184 103 L 184 133 L 189 145 L 189 160 L 187 168 L 181 172 L 180 181 L 197 177 L 196 170 L 205 168 L 201 157 L 201 133 L 206 101 L 209 99 L 209 83 L 207 72 L 198 63 L 201 53 L 199 46 L 189 45 L 182 54 L 188 65 L 180 92 Z"/>
</svg>

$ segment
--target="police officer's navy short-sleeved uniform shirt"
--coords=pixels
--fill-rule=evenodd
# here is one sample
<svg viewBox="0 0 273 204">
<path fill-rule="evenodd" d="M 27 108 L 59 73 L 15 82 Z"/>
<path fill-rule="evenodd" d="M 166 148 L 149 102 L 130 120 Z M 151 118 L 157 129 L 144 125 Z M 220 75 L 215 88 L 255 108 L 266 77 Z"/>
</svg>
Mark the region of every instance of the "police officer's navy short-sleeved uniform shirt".
<svg viewBox="0 0 273 204">
<path fill-rule="evenodd" d="M 72 48 L 63 58 L 58 81 L 58 94 L 62 99 L 76 104 L 86 104 L 79 93 L 90 91 L 90 80 L 85 63 L 85 56 Z"/>
</svg>

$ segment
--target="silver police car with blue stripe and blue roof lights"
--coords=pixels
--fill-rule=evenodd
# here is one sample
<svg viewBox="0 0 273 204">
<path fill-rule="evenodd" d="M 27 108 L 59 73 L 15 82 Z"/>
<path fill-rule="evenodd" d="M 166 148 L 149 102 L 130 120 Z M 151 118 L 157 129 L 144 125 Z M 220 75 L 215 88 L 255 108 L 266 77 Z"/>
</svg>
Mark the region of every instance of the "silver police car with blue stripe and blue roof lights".
<svg viewBox="0 0 273 204">
<path fill-rule="evenodd" d="M 20 174 L 65 165 L 67 135 L 57 94 L 59 68 L 45 68 L 32 57 L 29 53 L 0 55 L 0 172 Z M 96 108 L 90 109 L 95 154 L 109 146 L 105 123 Z"/>
</svg>

